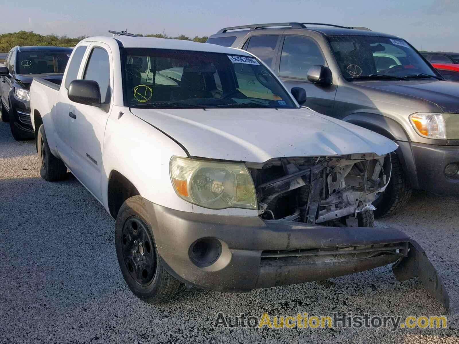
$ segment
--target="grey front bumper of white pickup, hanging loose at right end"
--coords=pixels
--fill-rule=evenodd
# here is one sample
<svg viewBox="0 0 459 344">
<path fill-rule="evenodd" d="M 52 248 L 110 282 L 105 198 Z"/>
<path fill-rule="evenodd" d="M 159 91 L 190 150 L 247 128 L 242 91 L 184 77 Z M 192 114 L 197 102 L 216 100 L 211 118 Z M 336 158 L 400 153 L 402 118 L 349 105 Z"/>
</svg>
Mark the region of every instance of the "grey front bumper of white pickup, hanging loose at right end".
<svg viewBox="0 0 459 344">
<path fill-rule="evenodd" d="M 242 292 L 395 263 L 399 281 L 419 277 L 448 310 L 448 292 L 435 267 L 420 245 L 397 229 L 264 221 L 145 203 L 162 262 L 187 287 Z"/>
</svg>

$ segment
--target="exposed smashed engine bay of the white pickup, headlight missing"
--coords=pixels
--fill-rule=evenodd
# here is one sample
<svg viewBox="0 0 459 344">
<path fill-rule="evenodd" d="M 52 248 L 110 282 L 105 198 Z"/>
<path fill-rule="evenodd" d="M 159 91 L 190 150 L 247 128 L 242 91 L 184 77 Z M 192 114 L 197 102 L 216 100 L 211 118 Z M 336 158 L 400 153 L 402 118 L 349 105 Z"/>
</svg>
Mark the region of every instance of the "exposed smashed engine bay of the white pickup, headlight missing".
<svg viewBox="0 0 459 344">
<path fill-rule="evenodd" d="M 374 210 L 371 203 L 386 189 L 392 167 L 389 155 L 374 153 L 277 158 L 246 165 L 264 220 L 329 226 L 350 225 L 358 212 Z"/>
</svg>

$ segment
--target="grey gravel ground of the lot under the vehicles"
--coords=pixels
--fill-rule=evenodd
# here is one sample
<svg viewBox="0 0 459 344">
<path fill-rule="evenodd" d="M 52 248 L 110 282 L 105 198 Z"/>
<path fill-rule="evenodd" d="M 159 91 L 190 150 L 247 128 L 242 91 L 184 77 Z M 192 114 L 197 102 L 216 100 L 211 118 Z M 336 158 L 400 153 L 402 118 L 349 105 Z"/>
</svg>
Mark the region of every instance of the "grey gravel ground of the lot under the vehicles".
<svg viewBox="0 0 459 344">
<path fill-rule="evenodd" d="M 459 343 L 458 205 L 458 197 L 416 192 L 398 215 L 376 222 L 426 250 L 449 291 L 447 329 L 215 328 L 218 312 L 405 318 L 443 310 L 417 279 L 399 283 L 389 266 L 246 294 L 182 288 L 167 305 L 147 305 L 118 268 L 114 220 L 72 175 L 41 179 L 33 141 L 14 141 L 0 122 L 0 342 Z"/>
</svg>

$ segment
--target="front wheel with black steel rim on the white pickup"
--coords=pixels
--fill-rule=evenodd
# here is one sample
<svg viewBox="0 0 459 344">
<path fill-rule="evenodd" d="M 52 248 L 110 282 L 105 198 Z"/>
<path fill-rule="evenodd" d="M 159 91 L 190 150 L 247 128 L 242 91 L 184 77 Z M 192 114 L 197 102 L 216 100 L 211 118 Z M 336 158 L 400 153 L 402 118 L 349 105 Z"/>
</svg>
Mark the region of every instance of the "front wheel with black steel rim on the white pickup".
<svg viewBox="0 0 459 344">
<path fill-rule="evenodd" d="M 157 304 L 177 294 L 181 283 L 162 265 L 141 196 L 133 196 L 121 205 L 115 224 L 115 246 L 124 280 L 140 300 Z"/>
</svg>

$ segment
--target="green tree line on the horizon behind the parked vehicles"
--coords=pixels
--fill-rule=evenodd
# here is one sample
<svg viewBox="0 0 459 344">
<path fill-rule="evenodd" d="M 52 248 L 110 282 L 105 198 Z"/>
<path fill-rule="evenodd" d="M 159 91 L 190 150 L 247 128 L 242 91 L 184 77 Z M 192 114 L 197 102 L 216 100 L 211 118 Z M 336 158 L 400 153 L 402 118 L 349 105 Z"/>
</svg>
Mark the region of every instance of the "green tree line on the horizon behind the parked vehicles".
<svg viewBox="0 0 459 344">
<path fill-rule="evenodd" d="M 141 34 L 139 36 L 143 37 L 159 37 L 166 39 L 184 39 L 195 42 L 205 42 L 207 36 L 195 36 L 190 38 L 186 35 L 179 35 L 177 37 L 169 36 L 165 33 L 150 33 L 150 34 Z M 0 34 L 0 52 L 8 52 L 11 48 L 16 45 L 19 46 L 28 46 L 28 45 L 52 45 L 57 47 L 73 47 L 80 40 L 85 39 L 89 36 L 80 36 L 75 38 L 69 38 L 66 35 L 58 36 L 56 34 L 50 35 L 41 35 L 39 33 L 34 33 L 33 31 L 19 31 L 13 33 L 2 33 Z"/>
</svg>

